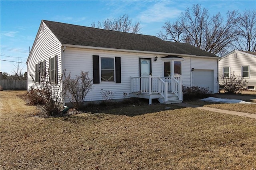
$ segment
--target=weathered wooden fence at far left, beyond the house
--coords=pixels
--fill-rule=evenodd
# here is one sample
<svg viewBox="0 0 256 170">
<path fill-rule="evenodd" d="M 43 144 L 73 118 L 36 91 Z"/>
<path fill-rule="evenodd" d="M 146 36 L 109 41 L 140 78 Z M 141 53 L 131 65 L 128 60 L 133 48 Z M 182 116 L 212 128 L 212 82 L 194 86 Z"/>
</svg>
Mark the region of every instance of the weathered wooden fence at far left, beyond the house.
<svg viewBox="0 0 256 170">
<path fill-rule="evenodd" d="M 27 80 L 4 79 L 1 80 L 3 90 L 26 90 L 28 89 Z"/>
</svg>

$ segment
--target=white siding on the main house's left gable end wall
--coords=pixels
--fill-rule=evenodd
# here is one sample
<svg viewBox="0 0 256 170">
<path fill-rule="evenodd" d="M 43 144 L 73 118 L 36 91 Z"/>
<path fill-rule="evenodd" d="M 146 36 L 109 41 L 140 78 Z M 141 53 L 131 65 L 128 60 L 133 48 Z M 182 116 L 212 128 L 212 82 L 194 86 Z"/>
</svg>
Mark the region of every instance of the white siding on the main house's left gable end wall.
<svg viewBox="0 0 256 170">
<path fill-rule="evenodd" d="M 45 59 L 47 72 L 49 68 L 49 58 L 54 57 L 54 55 L 58 55 L 58 75 L 61 75 L 61 45 L 42 23 L 38 30 L 38 35 L 32 47 L 30 58 L 27 64 L 28 90 L 30 90 L 30 87 L 33 86 L 32 78 L 30 75 L 35 74 L 35 64 Z"/>
</svg>

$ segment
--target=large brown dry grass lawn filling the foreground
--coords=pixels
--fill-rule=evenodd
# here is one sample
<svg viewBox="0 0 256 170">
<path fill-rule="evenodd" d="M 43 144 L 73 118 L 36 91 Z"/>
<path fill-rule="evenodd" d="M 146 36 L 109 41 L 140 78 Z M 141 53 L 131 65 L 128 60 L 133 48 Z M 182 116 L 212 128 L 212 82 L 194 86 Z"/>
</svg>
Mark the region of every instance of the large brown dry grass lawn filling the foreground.
<svg viewBox="0 0 256 170">
<path fill-rule="evenodd" d="M 1 169 L 256 169 L 252 118 L 142 105 L 42 119 L 0 95 Z"/>
</svg>

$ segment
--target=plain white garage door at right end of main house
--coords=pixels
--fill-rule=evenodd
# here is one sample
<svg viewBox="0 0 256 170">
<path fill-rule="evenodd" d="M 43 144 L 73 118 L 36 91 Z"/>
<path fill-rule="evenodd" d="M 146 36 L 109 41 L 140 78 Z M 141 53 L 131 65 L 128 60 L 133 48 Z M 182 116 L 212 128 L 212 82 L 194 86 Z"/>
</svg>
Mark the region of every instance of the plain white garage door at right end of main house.
<svg viewBox="0 0 256 170">
<path fill-rule="evenodd" d="M 193 86 L 208 87 L 211 93 L 214 93 L 214 76 L 213 70 L 194 70 Z"/>
</svg>

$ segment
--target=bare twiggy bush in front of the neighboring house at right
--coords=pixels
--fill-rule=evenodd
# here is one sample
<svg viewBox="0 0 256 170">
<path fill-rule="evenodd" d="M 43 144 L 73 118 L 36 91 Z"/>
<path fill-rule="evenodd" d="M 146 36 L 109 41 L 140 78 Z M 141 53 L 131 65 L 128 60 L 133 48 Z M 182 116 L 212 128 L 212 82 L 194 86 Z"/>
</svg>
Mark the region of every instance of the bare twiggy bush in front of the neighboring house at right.
<svg viewBox="0 0 256 170">
<path fill-rule="evenodd" d="M 234 74 L 230 75 L 230 77 L 222 76 L 222 81 L 226 93 L 240 93 L 247 84 L 244 77 L 236 76 Z"/>
</svg>

